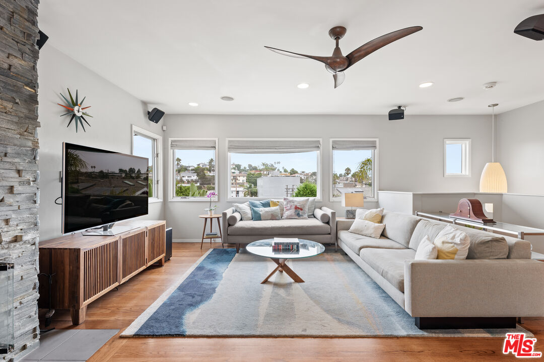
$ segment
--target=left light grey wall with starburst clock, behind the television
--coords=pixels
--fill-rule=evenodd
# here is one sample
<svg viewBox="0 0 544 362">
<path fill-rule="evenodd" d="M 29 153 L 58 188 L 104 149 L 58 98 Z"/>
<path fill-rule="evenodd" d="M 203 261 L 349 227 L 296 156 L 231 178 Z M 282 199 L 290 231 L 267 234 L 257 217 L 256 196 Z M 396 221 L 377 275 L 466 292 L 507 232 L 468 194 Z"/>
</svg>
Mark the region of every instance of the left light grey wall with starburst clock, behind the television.
<svg viewBox="0 0 544 362">
<path fill-rule="evenodd" d="M 107 61 L 108 55 L 104 55 Z M 137 76 L 137 75 L 135 75 Z M 39 77 L 39 128 L 40 139 L 40 239 L 61 235 L 61 206 L 54 200 L 60 196 L 59 171 L 62 169 L 62 142 L 71 142 L 122 153 L 132 153 L 131 124 L 162 135 L 160 125 L 147 120 L 146 106 L 121 88 L 91 72 L 67 55 L 46 44 L 40 51 Z M 66 128 L 69 118 L 59 117 L 63 104 L 59 93 L 67 96 L 79 90 L 87 97 L 85 105 L 93 118 L 85 125 L 86 132 L 75 131 L 74 124 Z M 73 94 L 75 96 L 75 94 Z M 149 205 L 147 219 L 164 219 L 163 202 Z"/>
</svg>

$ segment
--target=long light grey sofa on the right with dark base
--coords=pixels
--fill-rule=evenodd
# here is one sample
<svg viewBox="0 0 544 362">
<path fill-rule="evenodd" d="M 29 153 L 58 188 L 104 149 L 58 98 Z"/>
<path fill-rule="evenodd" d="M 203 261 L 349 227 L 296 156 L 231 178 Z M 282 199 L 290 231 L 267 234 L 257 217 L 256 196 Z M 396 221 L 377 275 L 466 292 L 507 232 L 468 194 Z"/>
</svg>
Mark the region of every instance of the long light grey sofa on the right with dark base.
<svg viewBox="0 0 544 362">
<path fill-rule="evenodd" d="M 350 233 L 353 221 L 338 220 L 338 245 L 418 328 L 510 328 L 544 316 L 544 263 L 530 259 L 526 240 L 388 211 L 375 239 Z M 447 225 L 471 239 L 467 259 L 415 260 L 425 235 Z"/>
</svg>

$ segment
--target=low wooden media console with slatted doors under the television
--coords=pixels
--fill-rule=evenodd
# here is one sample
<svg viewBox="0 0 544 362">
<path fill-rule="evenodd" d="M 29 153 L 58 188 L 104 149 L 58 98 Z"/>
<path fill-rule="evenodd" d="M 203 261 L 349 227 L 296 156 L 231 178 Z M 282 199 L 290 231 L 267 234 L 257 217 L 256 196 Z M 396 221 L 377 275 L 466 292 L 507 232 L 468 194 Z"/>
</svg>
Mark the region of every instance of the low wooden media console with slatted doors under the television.
<svg viewBox="0 0 544 362">
<path fill-rule="evenodd" d="M 40 284 L 40 304 L 70 309 L 72 323 L 85 321 L 87 305 L 158 262 L 164 265 L 166 221 L 128 220 L 133 227 L 115 236 L 73 233 L 39 244 L 40 272 L 52 274 L 49 290 Z"/>
</svg>

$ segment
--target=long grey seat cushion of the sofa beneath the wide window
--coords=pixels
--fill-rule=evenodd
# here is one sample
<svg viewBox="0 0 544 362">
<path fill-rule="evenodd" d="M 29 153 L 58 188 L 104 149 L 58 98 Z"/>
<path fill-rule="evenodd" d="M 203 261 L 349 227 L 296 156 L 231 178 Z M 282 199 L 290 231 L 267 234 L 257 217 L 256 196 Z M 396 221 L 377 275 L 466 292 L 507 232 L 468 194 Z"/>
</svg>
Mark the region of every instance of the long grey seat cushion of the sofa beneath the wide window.
<svg viewBox="0 0 544 362">
<path fill-rule="evenodd" d="M 330 234 L 331 226 L 316 218 L 262 221 L 238 221 L 229 226 L 229 235 L 317 235 Z M 263 237 L 263 239 L 265 239 Z"/>
</svg>

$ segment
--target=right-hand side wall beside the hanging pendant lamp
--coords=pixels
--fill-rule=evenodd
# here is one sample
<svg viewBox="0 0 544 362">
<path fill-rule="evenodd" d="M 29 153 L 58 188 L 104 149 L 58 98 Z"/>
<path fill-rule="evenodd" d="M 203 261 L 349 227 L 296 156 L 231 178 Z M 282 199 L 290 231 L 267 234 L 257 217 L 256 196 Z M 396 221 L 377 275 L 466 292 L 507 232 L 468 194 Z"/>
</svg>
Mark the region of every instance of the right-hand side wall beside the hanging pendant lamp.
<svg viewBox="0 0 544 362">
<path fill-rule="evenodd" d="M 497 119 L 497 160 L 508 181 L 508 192 L 544 195 L 544 101 Z"/>
</svg>

